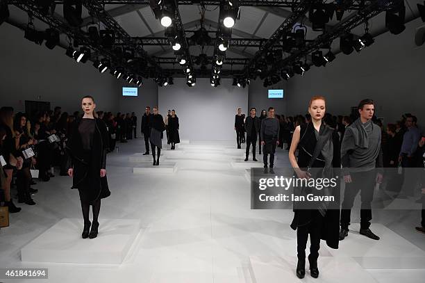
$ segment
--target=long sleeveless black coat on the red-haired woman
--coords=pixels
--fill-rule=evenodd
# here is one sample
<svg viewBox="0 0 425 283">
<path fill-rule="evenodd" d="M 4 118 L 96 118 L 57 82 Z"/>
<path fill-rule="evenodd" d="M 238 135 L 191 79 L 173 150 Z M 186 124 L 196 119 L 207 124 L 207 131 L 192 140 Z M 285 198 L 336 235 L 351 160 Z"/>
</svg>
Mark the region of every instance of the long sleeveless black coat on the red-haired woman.
<svg viewBox="0 0 425 283">
<path fill-rule="evenodd" d="M 319 134 L 322 134 L 323 128 L 328 127 L 322 123 L 320 127 Z M 308 167 L 310 158 L 313 155 L 317 139 L 315 136 L 315 129 L 313 124 L 310 122 L 307 125 L 301 126 L 300 141 L 298 144 L 299 156 L 298 156 L 298 165 L 299 168 L 305 170 Z M 340 158 L 340 136 L 336 130 L 333 131 L 331 137 L 333 143 L 333 175 L 336 177 L 340 175 L 338 168 L 341 167 L 341 158 Z M 316 161 L 311 166 L 312 168 L 323 168 L 324 167 L 324 157 L 322 153 L 319 154 Z M 317 170 L 315 170 L 317 171 Z M 333 194 L 336 202 L 331 204 L 331 207 L 328 207 L 326 214 L 324 216 L 323 226 L 321 229 L 321 238 L 326 241 L 326 244 L 330 248 L 337 249 L 339 244 L 339 231 L 340 231 L 340 186 L 333 188 Z M 297 229 L 301 225 L 306 225 L 312 220 L 314 213 L 306 209 L 295 209 L 294 210 L 294 219 L 292 220 L 291 227 L 292 229 Z"/>
</svg>

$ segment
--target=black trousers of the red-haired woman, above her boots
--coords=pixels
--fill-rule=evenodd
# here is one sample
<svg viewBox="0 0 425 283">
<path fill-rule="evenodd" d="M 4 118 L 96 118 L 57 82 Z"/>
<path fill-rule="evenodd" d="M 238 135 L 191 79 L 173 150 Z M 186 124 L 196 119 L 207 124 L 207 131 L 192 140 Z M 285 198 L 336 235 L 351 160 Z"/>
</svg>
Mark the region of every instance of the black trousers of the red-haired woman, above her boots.
<svg viewBox="0 0 425 283">
<path fill-rule="evenodd" d="M 319 214 L 319 212 L 318 212 Z M 306 259 L 306 248 L 308 234 L 310 234 L 310 261 L 316 261 L 319 257 L 320 233 L 322 229 L 323 217 L 315 216 L 307 225 L 297 227 L 297 257 Z"/>
</svg>

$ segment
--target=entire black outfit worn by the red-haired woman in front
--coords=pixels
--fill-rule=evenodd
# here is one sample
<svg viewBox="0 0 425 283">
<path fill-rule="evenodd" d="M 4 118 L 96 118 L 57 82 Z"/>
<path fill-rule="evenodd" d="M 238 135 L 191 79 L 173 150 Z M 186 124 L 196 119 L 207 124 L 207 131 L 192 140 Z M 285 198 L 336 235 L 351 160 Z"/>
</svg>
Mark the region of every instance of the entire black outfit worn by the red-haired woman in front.
<svg viewBox="0 0 425 283">
<path fill-rule="evenodd" d="M 313 177 L 332 178 L 339 175 L 340 168 L 340 143 L 339 136 L 335 129 L 326 126 L 322 123 L 319 132 L 313 127 L 313 123 L 301 125 L 300 141 L 298 144 L 299 156 L 298 165 L 301 170 L 306 170 L 310 165 L 316 146 L 322 145 L 322 151 L 317 156 L 317 159 L 311 164 L 311 168 L 320 168 L 313 170 Z M 322 140 L 323 139 L 323 140 Z M 321 145 L 318 144 L 321 140 Z M 324 149 L 327 148 L 326 156 L 323 155 Z M 322 169 L 324 168 L 324 169 Z M 326 168 L 326 170 L 325 170 Z M 311 193 L 308 188 L 305 193 Z M 295 192 L 294 192 L 295 193 Z M 317 261 L 319 257 L 320 239 L 326 241 L 330 248 L 338 248 L 339 235 L 339 186 L 331 188 L 329 195 L 335 197 L 335 202 L 331 202 L 327 206 L 318 205 L 317 209 L 296 209 L 294 204 L 294 219 L 292 220 L 292 229 L 297 229 L 297 252 L 298 259 L 306 259 L 306 245 L 308 234 L 310 234 L 310 264 L 312 261 Z M 301 204 L 302 205 L 302 204 Z"/>
</svg>

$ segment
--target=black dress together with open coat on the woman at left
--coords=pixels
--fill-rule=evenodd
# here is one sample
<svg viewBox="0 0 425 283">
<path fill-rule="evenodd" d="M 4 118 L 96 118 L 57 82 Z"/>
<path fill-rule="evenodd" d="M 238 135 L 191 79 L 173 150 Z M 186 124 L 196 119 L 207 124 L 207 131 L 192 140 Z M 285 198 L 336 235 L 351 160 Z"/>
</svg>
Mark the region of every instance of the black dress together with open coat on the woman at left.
<svg viewBox="0 0 425 283">
<path fill-rule="evenodd" d="M 80 119 L 74 124 L 72 138 L 67 144 L 68 168 L 74 168 L 72 188 L 78 188 L 83 202 L 93 203 L 108 197 L 108 181 L 100 177 L 106 169 L 108 130 L 100 119 Z"/>
</svg>

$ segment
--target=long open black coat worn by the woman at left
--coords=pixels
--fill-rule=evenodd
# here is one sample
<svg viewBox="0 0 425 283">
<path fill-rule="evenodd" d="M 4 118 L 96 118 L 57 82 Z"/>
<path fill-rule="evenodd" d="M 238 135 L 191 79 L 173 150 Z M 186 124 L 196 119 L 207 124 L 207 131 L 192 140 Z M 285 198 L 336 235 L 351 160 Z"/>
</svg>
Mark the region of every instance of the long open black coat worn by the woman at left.
<svg viewBox="0 0 425 283">
<path fill-rule="evenodd" d="M 94 190 L 90 195 L 96 195 L 95 200 L 110 195 L 108 188 L 108 181 L 105 177 L 100 177 L 100 170 L 106 169 L 106 152 L 108 150 L 108 129 L 103 120 L 95 118 L 95 129 L 93 135 L 93 145 L 90 156 L 90 166 L 86 162 L 83 149 L 83 142 L 81 134 L 78 131 L 78 126 L 81 120 L 74 123 L 72 129 L 72 138 L 67 143 L 68 168 L 74 168 L 74 176 L 72 179 L 72 188 L 81 188 L 84 184 L 88 184 L 90 179 L 91 188 L 84 188 Z"/>
</svg>

